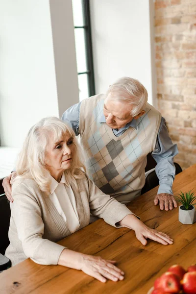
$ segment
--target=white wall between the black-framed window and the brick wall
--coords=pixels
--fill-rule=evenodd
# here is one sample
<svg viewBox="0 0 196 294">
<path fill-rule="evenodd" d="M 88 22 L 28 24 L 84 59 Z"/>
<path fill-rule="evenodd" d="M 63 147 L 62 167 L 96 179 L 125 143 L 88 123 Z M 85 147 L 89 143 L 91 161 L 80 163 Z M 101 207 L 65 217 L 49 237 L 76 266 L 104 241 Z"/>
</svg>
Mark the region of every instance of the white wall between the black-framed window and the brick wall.
<svg viewBox="0 0 196 294">
<path fill-rule="evenodd" d="M 144 84 L 152 103 L 149 1 L 90 0 L 97 94 L 117 78 L 130 76 Z"/>
</svg>

